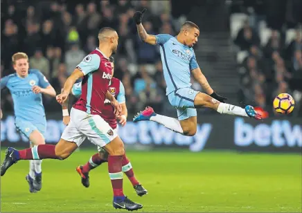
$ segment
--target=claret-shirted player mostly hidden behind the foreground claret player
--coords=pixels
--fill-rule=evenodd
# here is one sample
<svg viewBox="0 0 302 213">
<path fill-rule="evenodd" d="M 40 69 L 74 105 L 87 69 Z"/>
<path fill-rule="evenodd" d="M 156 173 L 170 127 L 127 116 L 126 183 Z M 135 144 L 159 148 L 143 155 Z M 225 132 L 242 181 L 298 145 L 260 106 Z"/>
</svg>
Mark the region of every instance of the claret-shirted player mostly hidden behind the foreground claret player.
<svg viewBox="0 0 302 213">
<path fill-rule="evenodd" d="M 112 65 L 112 76 L 114 75 L 114 57 L 110 57 L 111 65 Z M 122 113 L 117 118 L 121 125 L 124 127 L 127 122 L 127 106 L 125 102 L 125 88 L 123 86 L 123 83 L 118 80 L 115 77 L 112 77 L 112 80 L 109 83 L 109 92 L 114 95 L 114 98 L 118 101 L 118 103 L 121 104 L 122 107 Z M 80 97 L 82 94 L 82 82 L 76 83 L 73 85 L 73 88 L 71 90 L 71 93 L 75 97 Z M 118 125 L 116 122 L 116 116 L 114 115 L 114 107 L 112 107 L 112 104 L 109 100 L 105 100 L 105 107 L 102 110 L 102 117 L 104 120 L 109 124 L 110 127 L 117 133 L 118 131 Z M 64 124 L 69 124 L 70 122 L 70 116 L 68 111 L 68 101 L 66 101 L 64 104 L 62 104 L 62 111 L 63 111 L 63 122 Z M 78 166 L 76 168 L 76 171 L 81 176 L 82 185 L 85 187 L 89 187 L 89 171 L 91 169 L 95 169 L 99 165 L 107 162 L 108 158 L 108 152 L 103 149 L 102 147 L 98 147 L 98 153 L 91 156 L 89 161 L 82 166 Z M 136 194 L 139 196 L 143 196 L 148 193 L 148 191 L 139 183 L 139 181 L 134 176 L 134 171 L 132 169 L 132 165 L 130 163 L 129 158 L 125 155 L 122 162 L 122 171 L 126 174 L 126 176 L 129 178 L 130 182 L 132 183 Z"/>
</svg>

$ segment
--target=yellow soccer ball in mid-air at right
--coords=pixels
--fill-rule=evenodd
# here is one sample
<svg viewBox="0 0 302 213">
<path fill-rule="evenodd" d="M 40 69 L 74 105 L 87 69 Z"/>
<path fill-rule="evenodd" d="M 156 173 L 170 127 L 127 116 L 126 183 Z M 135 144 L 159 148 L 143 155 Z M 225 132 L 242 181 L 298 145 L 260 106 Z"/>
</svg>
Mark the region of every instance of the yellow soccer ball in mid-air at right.
<svg viewBox="0 0 302 213">
<path fill-rule="evenodd" d="M 289 114 L 294 110 L 294 98 L 287 93 L 281 93 L 276 96 L 273 102 L 277 113 Z"/>
</svg>

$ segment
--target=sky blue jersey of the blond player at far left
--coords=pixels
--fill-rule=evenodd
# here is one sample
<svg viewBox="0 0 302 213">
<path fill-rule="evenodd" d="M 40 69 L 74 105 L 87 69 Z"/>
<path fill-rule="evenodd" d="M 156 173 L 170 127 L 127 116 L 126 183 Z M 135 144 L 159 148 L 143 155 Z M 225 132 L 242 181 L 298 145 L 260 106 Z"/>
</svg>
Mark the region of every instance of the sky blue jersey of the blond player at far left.
<svg viewBox="0 0 302 213">
<path fill-rule="evenodd" d="M 33 93 L 33 86 L 46 88 L 49 82 L 46 77 L 36 69 L 30 69 L 28 76 L 19 77 L 17 73 L 1 78 L 1 90 L 7 87 L 14 101 L 15 117 L 33 123 L 43 123 L 45 111 L 42 103 L 42 93 Z"/>
</svg>

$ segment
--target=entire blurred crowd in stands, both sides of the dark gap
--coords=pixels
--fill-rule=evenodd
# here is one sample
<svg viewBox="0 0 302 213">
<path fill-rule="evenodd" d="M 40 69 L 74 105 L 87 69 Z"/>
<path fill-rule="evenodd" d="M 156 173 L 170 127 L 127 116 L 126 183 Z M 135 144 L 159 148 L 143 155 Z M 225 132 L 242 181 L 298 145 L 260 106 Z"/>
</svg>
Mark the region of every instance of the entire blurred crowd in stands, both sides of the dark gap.
<svg viewBox="0 0 302 213">
<path fill-rule="evenodd" d="M 98 30 L 109 26 L 115 28 L 120 37 L 118 53 L 114 55 L 114 75 L 125 86 L 130 113 L 148 105 L 159 113 L 175 112 L 172 107 L 166 107 L 169 104 L 165 97 L 159 48 L 139 39 L 132 16 L 136 10 L 147 8 L 143 25 L 148 33 L 175 35 L 181 20 L 184 21 L 172 16 L 184 15 L 182 8 L 175 4 L 177 1 L 16 2 L 7 0 L 1 3 L 1 77 L 15 72 L 11 56 L 22 51 L 30 58 L 30 68 L 42 71 L 60 93 L 75 66 L 98 46 Z M 272 111 L 272 99 L 278 93 L 291 93 L 298 102 L 302 96 L 302 29 L 299 26 L 302 7 L 301 12 L 298 9 L 302 1 L 272 2 L 234 0 L 231 8 L 231 12 L 249 15 L 234 39 L 238 53 L 245 53 L 238 62 L 239 100 L 267 111 Z M 265 43 L 261 41 L 259 27 L 263 20 L 272 30 Z M 295 38 L 289 43 L 285 42 L 288 28 L 296 30 Z M 193 87 L 201 89 L 196 82 Z M 60 105 L 47 96 L 44 97 L 44 106 L 46 111 L 60 110 Z M 1 109 L 13 109 L 7 90 L 1 92 Z"/>
</svg>

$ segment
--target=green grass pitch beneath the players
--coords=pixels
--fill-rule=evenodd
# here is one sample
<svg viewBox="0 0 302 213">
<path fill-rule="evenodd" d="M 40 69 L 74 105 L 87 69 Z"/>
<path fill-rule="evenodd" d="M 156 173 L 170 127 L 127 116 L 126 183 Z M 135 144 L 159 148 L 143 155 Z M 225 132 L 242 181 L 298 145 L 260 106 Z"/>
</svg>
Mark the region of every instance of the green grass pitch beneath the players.
<svg viewBox="0 0 302 213">
<path fill-rule="evenodd" d="M 30 194 L 27 161 L 1 177 L 1 212 L 125 212 L 112 207 L 107 163 L 82 187 L 77 165 L 95 150 L 44 160 L 42 191 Z M 124 176 L 124 192 L 140 212 L 301 212 L 301 155 L 229 151 L 128 151 L 136 177 L 149 194 L 136 196 Z M 1 159 L 4 157 L 2 147 Z"/>
</svg>

